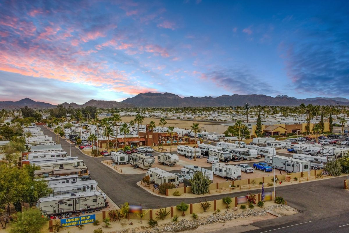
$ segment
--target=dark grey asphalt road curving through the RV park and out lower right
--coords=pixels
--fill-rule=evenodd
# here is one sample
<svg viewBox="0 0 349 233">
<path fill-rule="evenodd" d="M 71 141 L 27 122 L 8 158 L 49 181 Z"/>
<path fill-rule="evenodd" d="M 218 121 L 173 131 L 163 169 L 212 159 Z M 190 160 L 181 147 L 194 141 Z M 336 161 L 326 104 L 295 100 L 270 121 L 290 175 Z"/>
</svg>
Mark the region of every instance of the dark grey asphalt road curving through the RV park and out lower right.
<svg viewBox="0 0 349 233">
<path fill-rule="evenodd" d="M 44 134 L 52 138 L 55 137 L 54 133 L 46 128 L 44 128 Z M 69 143 L 64 139 L 61 139 L 60 143 L 63 150 L 69 153 Z M 180 201 L 195 203 L 203 200 L 203 198 L 178 199 L 154 196 L 136 185 L 136 182 L 142 179 L 143 174 L 119 174 L 101 163 L 102 160 L 107 160 L 109 157 L 92 158 L 84 155 L 74 145 L 71 145 L 71 152 L 71 156 L 78 156 L 79 159 L 85 161 L 92 179 L 98 182 L 98 186 L 102 191 L 117 205 L 129 202 L 134 205 L 142 204 L 145 209 L 155 209 L 174 206 Z M 261 229 L 250 232 L 349 232 L 349 225 L 346 225 L 349 224 L 349 192 L 343 189 L 343 180 L 343 177 L 338 177 L 277 187 L 277 196 L 282 196 L 290 206 L 298 209 L 300 213 L 253 223 L 252 225 Z M 265 191 L 273 191 L 273 189 L 273 187 L 266 188 Z M 230 196 L 244 196 L 247 192 L 237 192 Z M 253 190 L 253 192 L 257 193 L 261 190 Z M 206 199 L 210 201 L 221 199 L 224 196 L 227 196 L 227 194 L 209 196 Z M 217 230 L 215 233 L 221 232 L 226 231 Z"/>
</svg>

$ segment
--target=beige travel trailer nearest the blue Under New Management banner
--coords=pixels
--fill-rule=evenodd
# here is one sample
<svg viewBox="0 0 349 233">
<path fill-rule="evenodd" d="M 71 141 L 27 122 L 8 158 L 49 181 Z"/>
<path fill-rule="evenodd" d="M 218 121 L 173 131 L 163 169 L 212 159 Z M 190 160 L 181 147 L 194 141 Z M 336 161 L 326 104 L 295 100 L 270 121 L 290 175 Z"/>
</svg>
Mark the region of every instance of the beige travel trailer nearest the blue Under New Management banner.
<svg viewBox="0 0 349 233">
<path fill-rule="evenodd" d="M 78 192 L 38 199 L 36 207 L 47 215 L 61 215 L 75 211 L 102 209 L 107 206 L 106 195 L 99 191 Z"/>
</svg>

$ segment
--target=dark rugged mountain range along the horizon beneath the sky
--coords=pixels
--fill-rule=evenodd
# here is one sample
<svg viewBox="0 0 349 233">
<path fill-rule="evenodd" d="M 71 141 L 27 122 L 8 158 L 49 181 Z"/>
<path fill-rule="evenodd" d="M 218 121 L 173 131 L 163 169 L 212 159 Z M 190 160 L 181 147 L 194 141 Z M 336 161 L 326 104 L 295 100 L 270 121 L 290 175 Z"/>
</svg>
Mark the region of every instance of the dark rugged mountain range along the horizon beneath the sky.
<svg viewBox="0 0 349 233">
<path fill-rule="evenodd" d="M 349 105 L 349 100 L 342 97 L 316 97 L 308 99 L 296 99 L 287 95 L 221 95 L 218 97 L 184 97 L 172 93 L 141 93 L 121 102 L 90 100 L 84 104 L 62 103 L 65 107 L 83 108 L 96 106 L 97 108 L 124 108 L 124 107 L 215 107 L 215 106 L 242 106 L 245 103 L 250 105 L 274 105 L 274 106 L 298 106 L 301 103 L 313 105 Z M 0 109 L 22 108 L 54 108 L 56 105 L 44 102 L 37 102 L 29 98 L 19 101 L 0 101 Z"/>
</svg>

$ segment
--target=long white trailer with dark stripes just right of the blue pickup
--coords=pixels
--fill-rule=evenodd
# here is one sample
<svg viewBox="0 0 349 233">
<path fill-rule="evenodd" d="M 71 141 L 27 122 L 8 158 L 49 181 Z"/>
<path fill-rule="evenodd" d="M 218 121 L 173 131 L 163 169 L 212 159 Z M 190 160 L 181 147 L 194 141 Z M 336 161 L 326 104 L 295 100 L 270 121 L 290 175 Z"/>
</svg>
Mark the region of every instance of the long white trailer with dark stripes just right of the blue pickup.
<svg viewBox="0 0 349 233">
<path fill-rule="evenodd" d="M 287 158 L 280 155 L 275 155 L 275 156 L 266 155 L 264 157 L 264 161 L 272 167 L 274 165 L 273 163 L 275 163 L 276 169 L 285 170 L 287 173 L 310 171 L 310 162 L 304 159 L 300 160 L 300 159 L 294 159 L 294 158 Z"/>
</svg>

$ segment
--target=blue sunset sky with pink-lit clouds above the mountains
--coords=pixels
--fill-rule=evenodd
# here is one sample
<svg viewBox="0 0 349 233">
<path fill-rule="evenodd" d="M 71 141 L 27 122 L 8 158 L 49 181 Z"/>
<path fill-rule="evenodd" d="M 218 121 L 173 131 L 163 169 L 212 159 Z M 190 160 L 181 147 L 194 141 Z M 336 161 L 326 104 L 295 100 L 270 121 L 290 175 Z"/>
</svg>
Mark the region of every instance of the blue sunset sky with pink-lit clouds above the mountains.
<svg viewBox="0 0 349 233">
<path fill-rule="evenodd" d="M 0 101 L 349 98 L 348 1 L 0 1 Z"/>
</svg>

